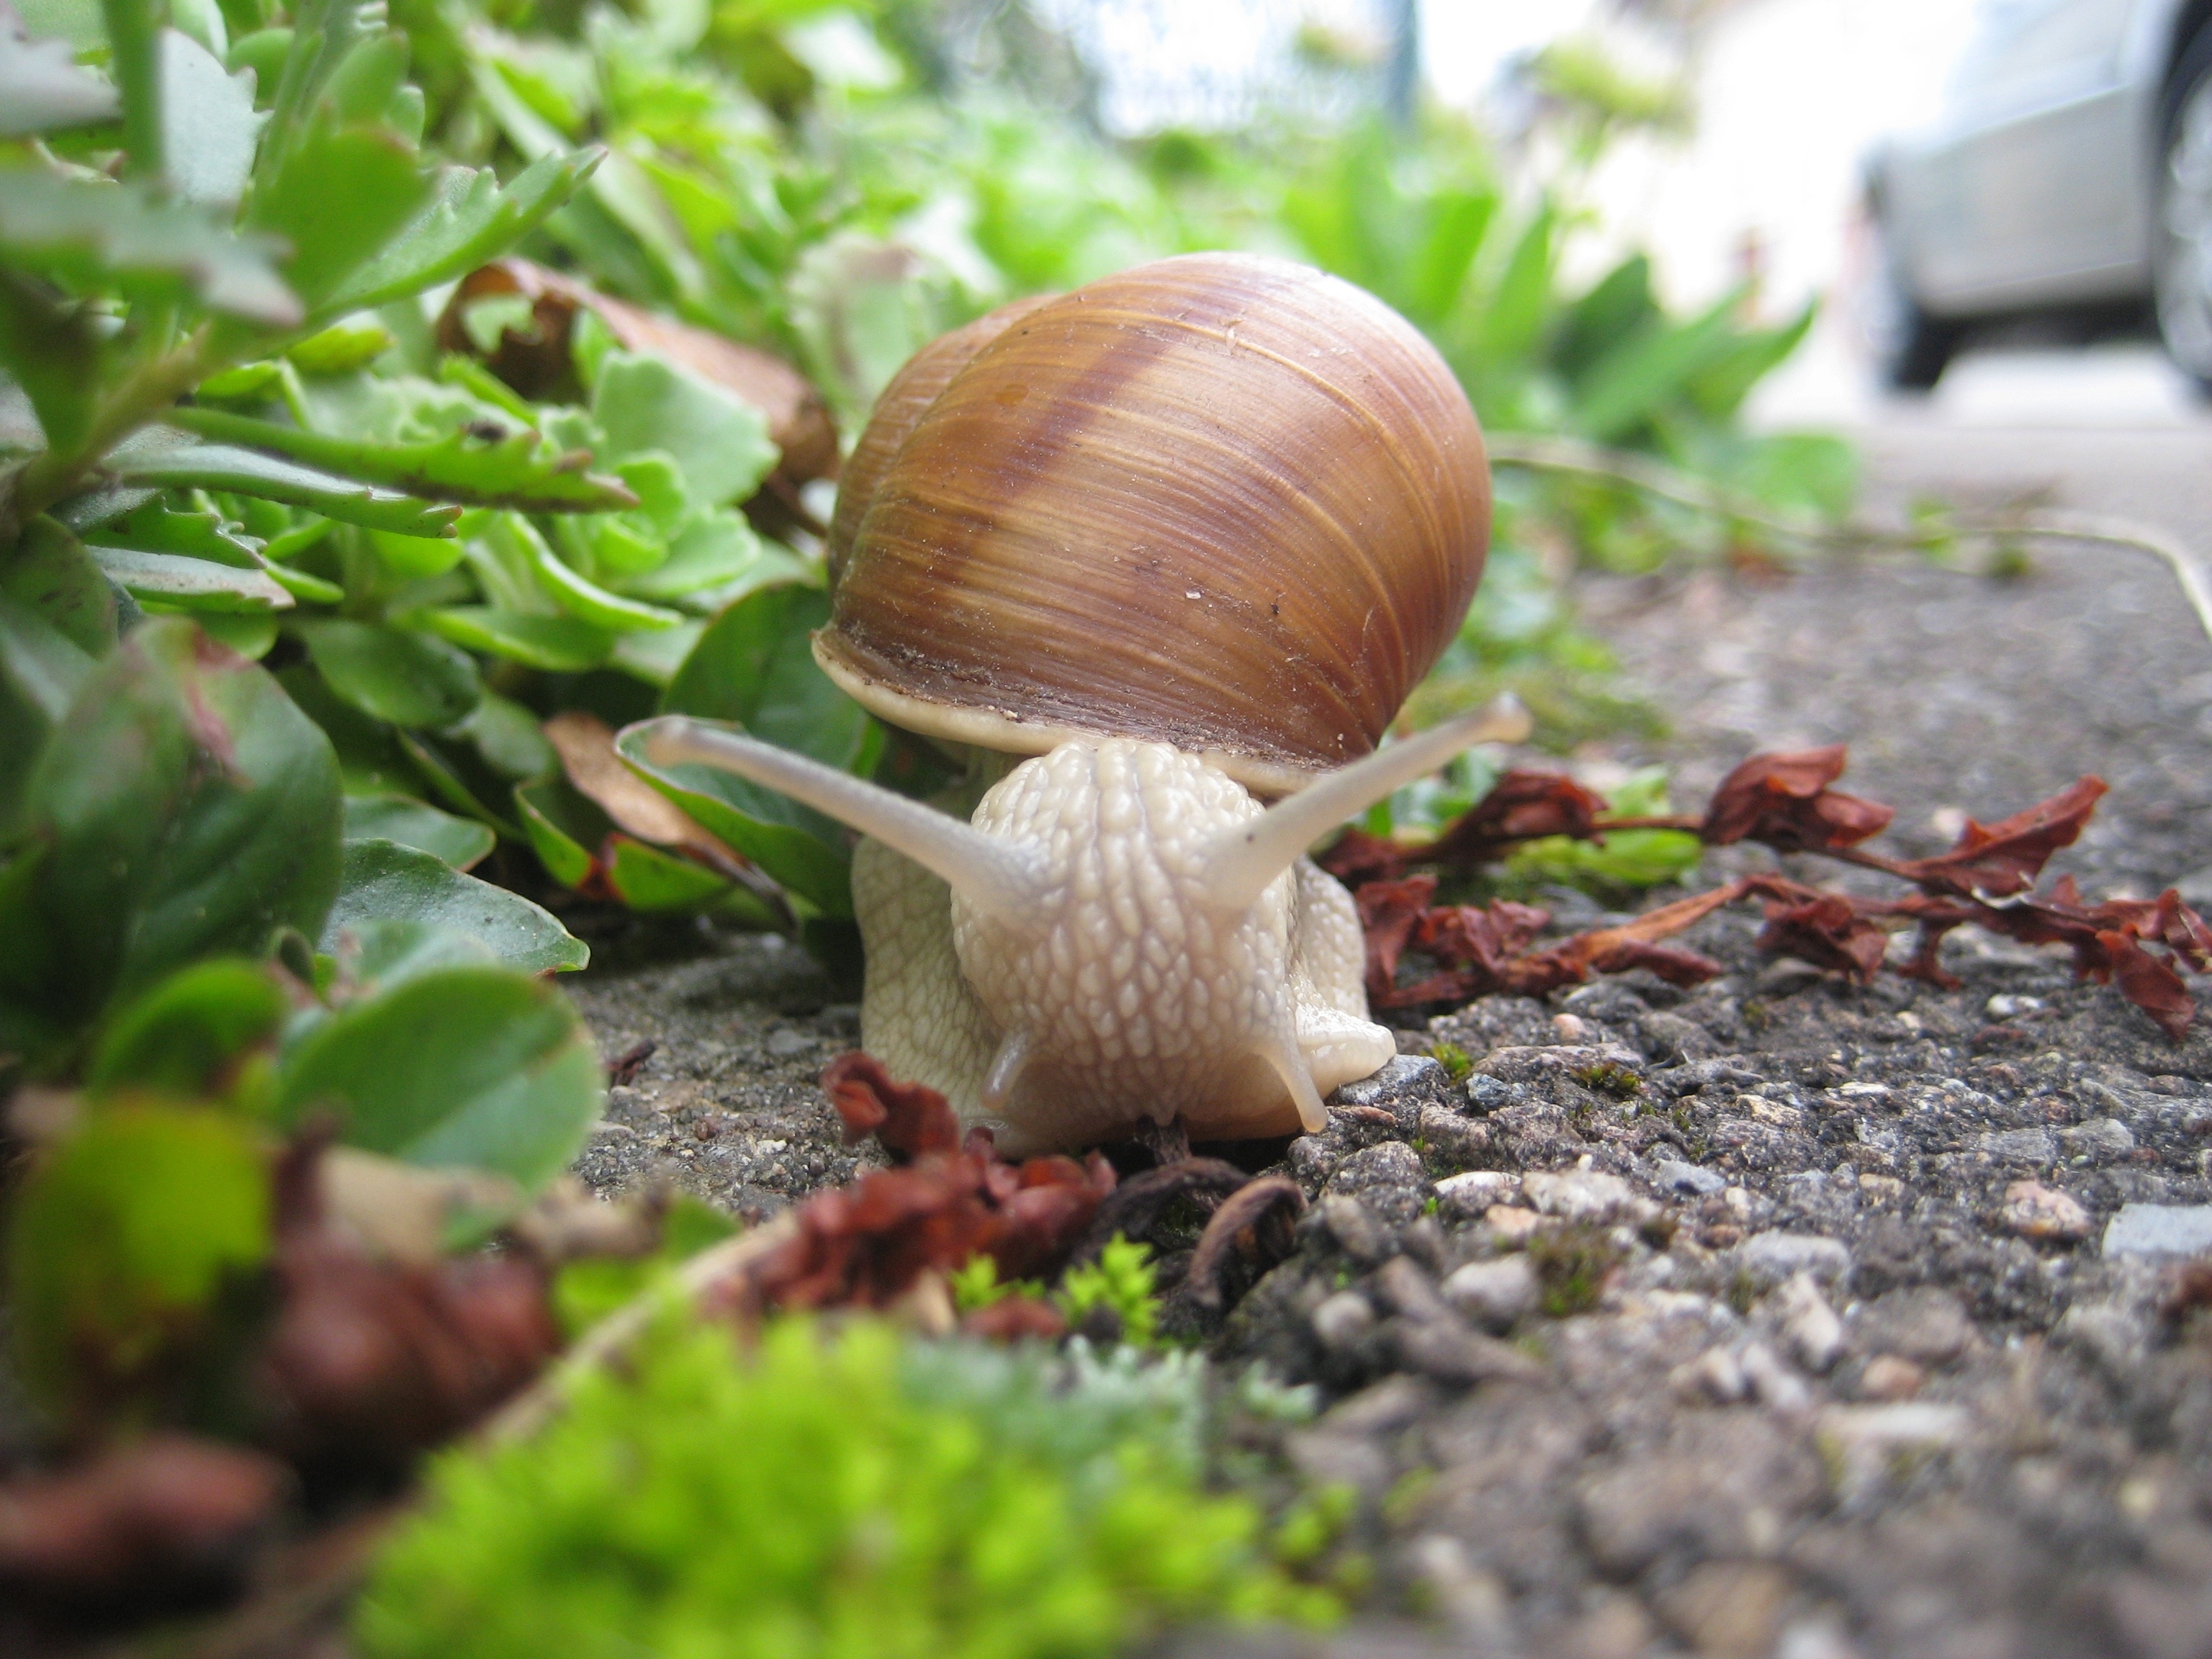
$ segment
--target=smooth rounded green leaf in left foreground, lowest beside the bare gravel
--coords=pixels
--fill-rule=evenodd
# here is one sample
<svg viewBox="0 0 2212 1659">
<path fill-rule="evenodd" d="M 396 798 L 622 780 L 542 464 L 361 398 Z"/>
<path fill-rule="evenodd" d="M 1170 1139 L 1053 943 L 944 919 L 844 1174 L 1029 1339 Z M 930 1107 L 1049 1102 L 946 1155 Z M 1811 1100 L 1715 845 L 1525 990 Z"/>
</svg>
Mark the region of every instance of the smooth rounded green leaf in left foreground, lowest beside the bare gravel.
<svg viewBox="0 0 2212 1659">
<path fill-rule="evenodd" d="M 495 967 L 420 973 L 356 1002 L 285 1057 L 281 1091 L 288 1117 L 334 1108 L 352 1146 L 489 1170 L 524 1192 L 575 1159 L 606 1104 L 568 1000 Z"/>
</svg>

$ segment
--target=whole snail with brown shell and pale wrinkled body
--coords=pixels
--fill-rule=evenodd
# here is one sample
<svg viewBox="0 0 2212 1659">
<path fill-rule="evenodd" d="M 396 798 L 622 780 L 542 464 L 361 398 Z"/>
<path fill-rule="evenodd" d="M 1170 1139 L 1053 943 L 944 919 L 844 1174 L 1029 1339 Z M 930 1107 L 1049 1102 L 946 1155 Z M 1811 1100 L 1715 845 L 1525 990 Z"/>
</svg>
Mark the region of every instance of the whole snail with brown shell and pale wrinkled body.
<svg viewBox="0 0 2212 1659">
<path fill-rule="evenodd" d="M 894 726 L 1031 757 L 969 823 L 684 717 L 646 754 L 863 834 L 863 1044 L 1006 1152 L 1316 1130 L 1396 1040 L 1305 849 L 1526 730 L 1376 748 L 1486 540 L 1473 409 L 1405 319 L 1279 259 L 1139 265 L 925 347 L 847 462 L 816 661 Z"/>
</svg>

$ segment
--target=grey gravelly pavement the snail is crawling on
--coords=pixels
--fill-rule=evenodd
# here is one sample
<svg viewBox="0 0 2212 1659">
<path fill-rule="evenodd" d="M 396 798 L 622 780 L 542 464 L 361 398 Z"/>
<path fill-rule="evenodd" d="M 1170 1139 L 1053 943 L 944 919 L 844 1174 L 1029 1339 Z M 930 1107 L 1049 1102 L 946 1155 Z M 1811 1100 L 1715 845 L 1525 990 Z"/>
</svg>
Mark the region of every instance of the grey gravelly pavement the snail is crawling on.
<svg viewBox="0 0 2212 1659">
<path fill-rule="evenodd" d="M 1889 500 L 2046 491 L 2212 544 L 2203 451 L 1869 442 Z M 1590 617 L 1674 714 L 1686 803 L 1752 748 L 1851 741 L 1845 787 L 1933 852 L 2099 772 L 2055 869 L 2212 883 L 2212 648 L 2150 562 L 1610 584 Z M 1730 964 L 1694 993 L 1628 975 L 1409 1029 L 1323 1135 L 1243 1148 L 1312 1210 L 1206 1334 L 1325 1387 L 1283 1451 L 1369 1500 L 1385 1610 L 1312 1650 L 2212 1655 L 2212 1316 L 2177 1265 L 2212 1248 L 2212 1020 L 2170 1044 L 2064 956 L 1964 936 L 1958 991 L 1854 989 L 1761 962 L 1754 927 L 1686 938 Z M 796 951 L 659 936 L 571 984 L 608 1057 L 657 1044 L 595 1188 L 765 1214 L 854 1172 L 814 1075 L 856 1011 Z"/>
</svg>

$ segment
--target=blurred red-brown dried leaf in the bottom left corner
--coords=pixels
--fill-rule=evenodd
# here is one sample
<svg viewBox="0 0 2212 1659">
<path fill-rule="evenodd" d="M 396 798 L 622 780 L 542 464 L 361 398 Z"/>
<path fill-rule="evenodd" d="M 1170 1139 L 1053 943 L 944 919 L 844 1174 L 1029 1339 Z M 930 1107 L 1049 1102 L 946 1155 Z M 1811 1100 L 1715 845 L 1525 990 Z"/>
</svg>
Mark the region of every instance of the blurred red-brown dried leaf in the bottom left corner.
<svg viewBox="0 0 2212 1659">
<path fill-rule="evenodd" d="M 290 1486 L 274 1458 L 155 1433 L 0 1486 L 0 1584 L 49 1604 L 168 1604 L 237 1582 Z"/>
</svg>

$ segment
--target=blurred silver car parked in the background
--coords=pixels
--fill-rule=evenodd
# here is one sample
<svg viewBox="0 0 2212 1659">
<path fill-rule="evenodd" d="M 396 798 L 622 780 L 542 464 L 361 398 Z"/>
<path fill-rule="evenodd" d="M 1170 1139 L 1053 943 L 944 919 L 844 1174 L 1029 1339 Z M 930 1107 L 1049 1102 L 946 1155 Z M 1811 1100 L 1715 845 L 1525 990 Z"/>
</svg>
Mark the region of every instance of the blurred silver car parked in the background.
<svg viewBox="0 0 2212 1659">
<path fill-rule="evenodd" d="M 1986 0 L 1867 208 L 1889 385 L 1936 385 L 1989 323 L 2150 319 L 2212 392 L 2212 0 Z"/>
</svg>

